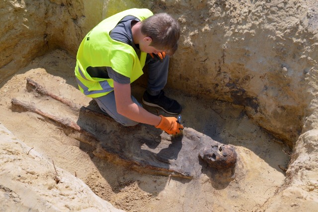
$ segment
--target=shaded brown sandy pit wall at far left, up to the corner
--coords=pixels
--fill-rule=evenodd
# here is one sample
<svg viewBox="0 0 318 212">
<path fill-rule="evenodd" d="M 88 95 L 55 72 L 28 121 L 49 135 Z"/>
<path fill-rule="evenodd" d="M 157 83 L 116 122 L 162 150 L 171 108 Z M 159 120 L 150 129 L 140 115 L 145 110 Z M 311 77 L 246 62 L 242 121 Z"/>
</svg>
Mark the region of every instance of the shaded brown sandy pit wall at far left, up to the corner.
<svg viewBox="0 0 318 212">
<path fill-rule="evenodd" d="M 0 1 L 0 67 L 1 80 L 15 72 L 39 53 L 47 51 L 44 36 L 46 6 L 34 2 Z"/>
</svg>

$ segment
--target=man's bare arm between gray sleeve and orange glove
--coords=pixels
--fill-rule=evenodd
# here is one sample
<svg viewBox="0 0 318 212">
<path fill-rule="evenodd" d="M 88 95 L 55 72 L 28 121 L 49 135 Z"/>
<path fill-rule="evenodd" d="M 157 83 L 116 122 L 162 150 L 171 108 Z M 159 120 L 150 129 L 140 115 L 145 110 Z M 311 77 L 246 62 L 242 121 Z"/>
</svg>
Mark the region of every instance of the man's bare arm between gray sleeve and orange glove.
<svg viewBox="0 0 318 212">
<path fill-rule="evenodd" d="M 157 126 L 161 117 L 148 112 L 141 106 L 138 106 L 131 99 L 130 84 L 120 84 L 114 81 L 114 93 L 117 112 L 131 120 Z"/>
</svg>

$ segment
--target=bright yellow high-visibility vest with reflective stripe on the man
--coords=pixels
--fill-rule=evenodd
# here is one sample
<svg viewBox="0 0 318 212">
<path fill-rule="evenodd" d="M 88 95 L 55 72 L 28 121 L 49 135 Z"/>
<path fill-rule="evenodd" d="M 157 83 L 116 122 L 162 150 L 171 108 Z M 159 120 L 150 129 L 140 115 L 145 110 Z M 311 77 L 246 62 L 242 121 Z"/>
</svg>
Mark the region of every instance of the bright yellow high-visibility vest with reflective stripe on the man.
<svg viewBox="0 0 318 212">
<path fill-rule="evenodd" d="M 109 32 L 127 15 L 133 15 L 142 21 L 152 16 L 153 12 L 133 8 L 112 15 L 90 30 L 79 45 L 75 76 L 79 90 L 87 97 L 101 97 L 114 90 L 112 79 L 90 77 L 87 67 L 111 67 L 130 78 L 130 83 L 143 74 L 147 53 L 141 52 L 139 59 L 132 46 L 109 36 Z"/>
</svg>

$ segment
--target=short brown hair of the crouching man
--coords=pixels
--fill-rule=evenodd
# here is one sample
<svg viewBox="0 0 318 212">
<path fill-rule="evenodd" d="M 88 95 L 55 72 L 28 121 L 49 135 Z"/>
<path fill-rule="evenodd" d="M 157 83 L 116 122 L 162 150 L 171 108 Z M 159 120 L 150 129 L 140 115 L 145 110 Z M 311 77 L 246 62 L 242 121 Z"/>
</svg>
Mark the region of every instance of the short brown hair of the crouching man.
<svg viewBox="0 0 318 212">
<path fill-rule="evenodd" d="M 167 13 L 154 14 L 142 21 L 141 32 L 152 38 L 151 46 L 172 55 L 178 48 L 180 26 Z"/>
</svg>

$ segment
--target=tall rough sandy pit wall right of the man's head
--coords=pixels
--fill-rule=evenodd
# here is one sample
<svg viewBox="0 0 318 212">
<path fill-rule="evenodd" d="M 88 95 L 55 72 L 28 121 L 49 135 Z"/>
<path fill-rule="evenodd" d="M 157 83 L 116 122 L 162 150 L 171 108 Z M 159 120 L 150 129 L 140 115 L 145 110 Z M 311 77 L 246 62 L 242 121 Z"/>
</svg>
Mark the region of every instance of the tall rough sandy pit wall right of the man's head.
<svg viewBox="0 0 318 212">
<path fill-rule="evenodd" d="M 310 103 L 305 79 L 317 70 L 317 3 L 156 2 L 155 11 L 172 13 L 182 28 L 169 86 L 243 105 L 259 125 L 295 143 Z"/>
</svg>

